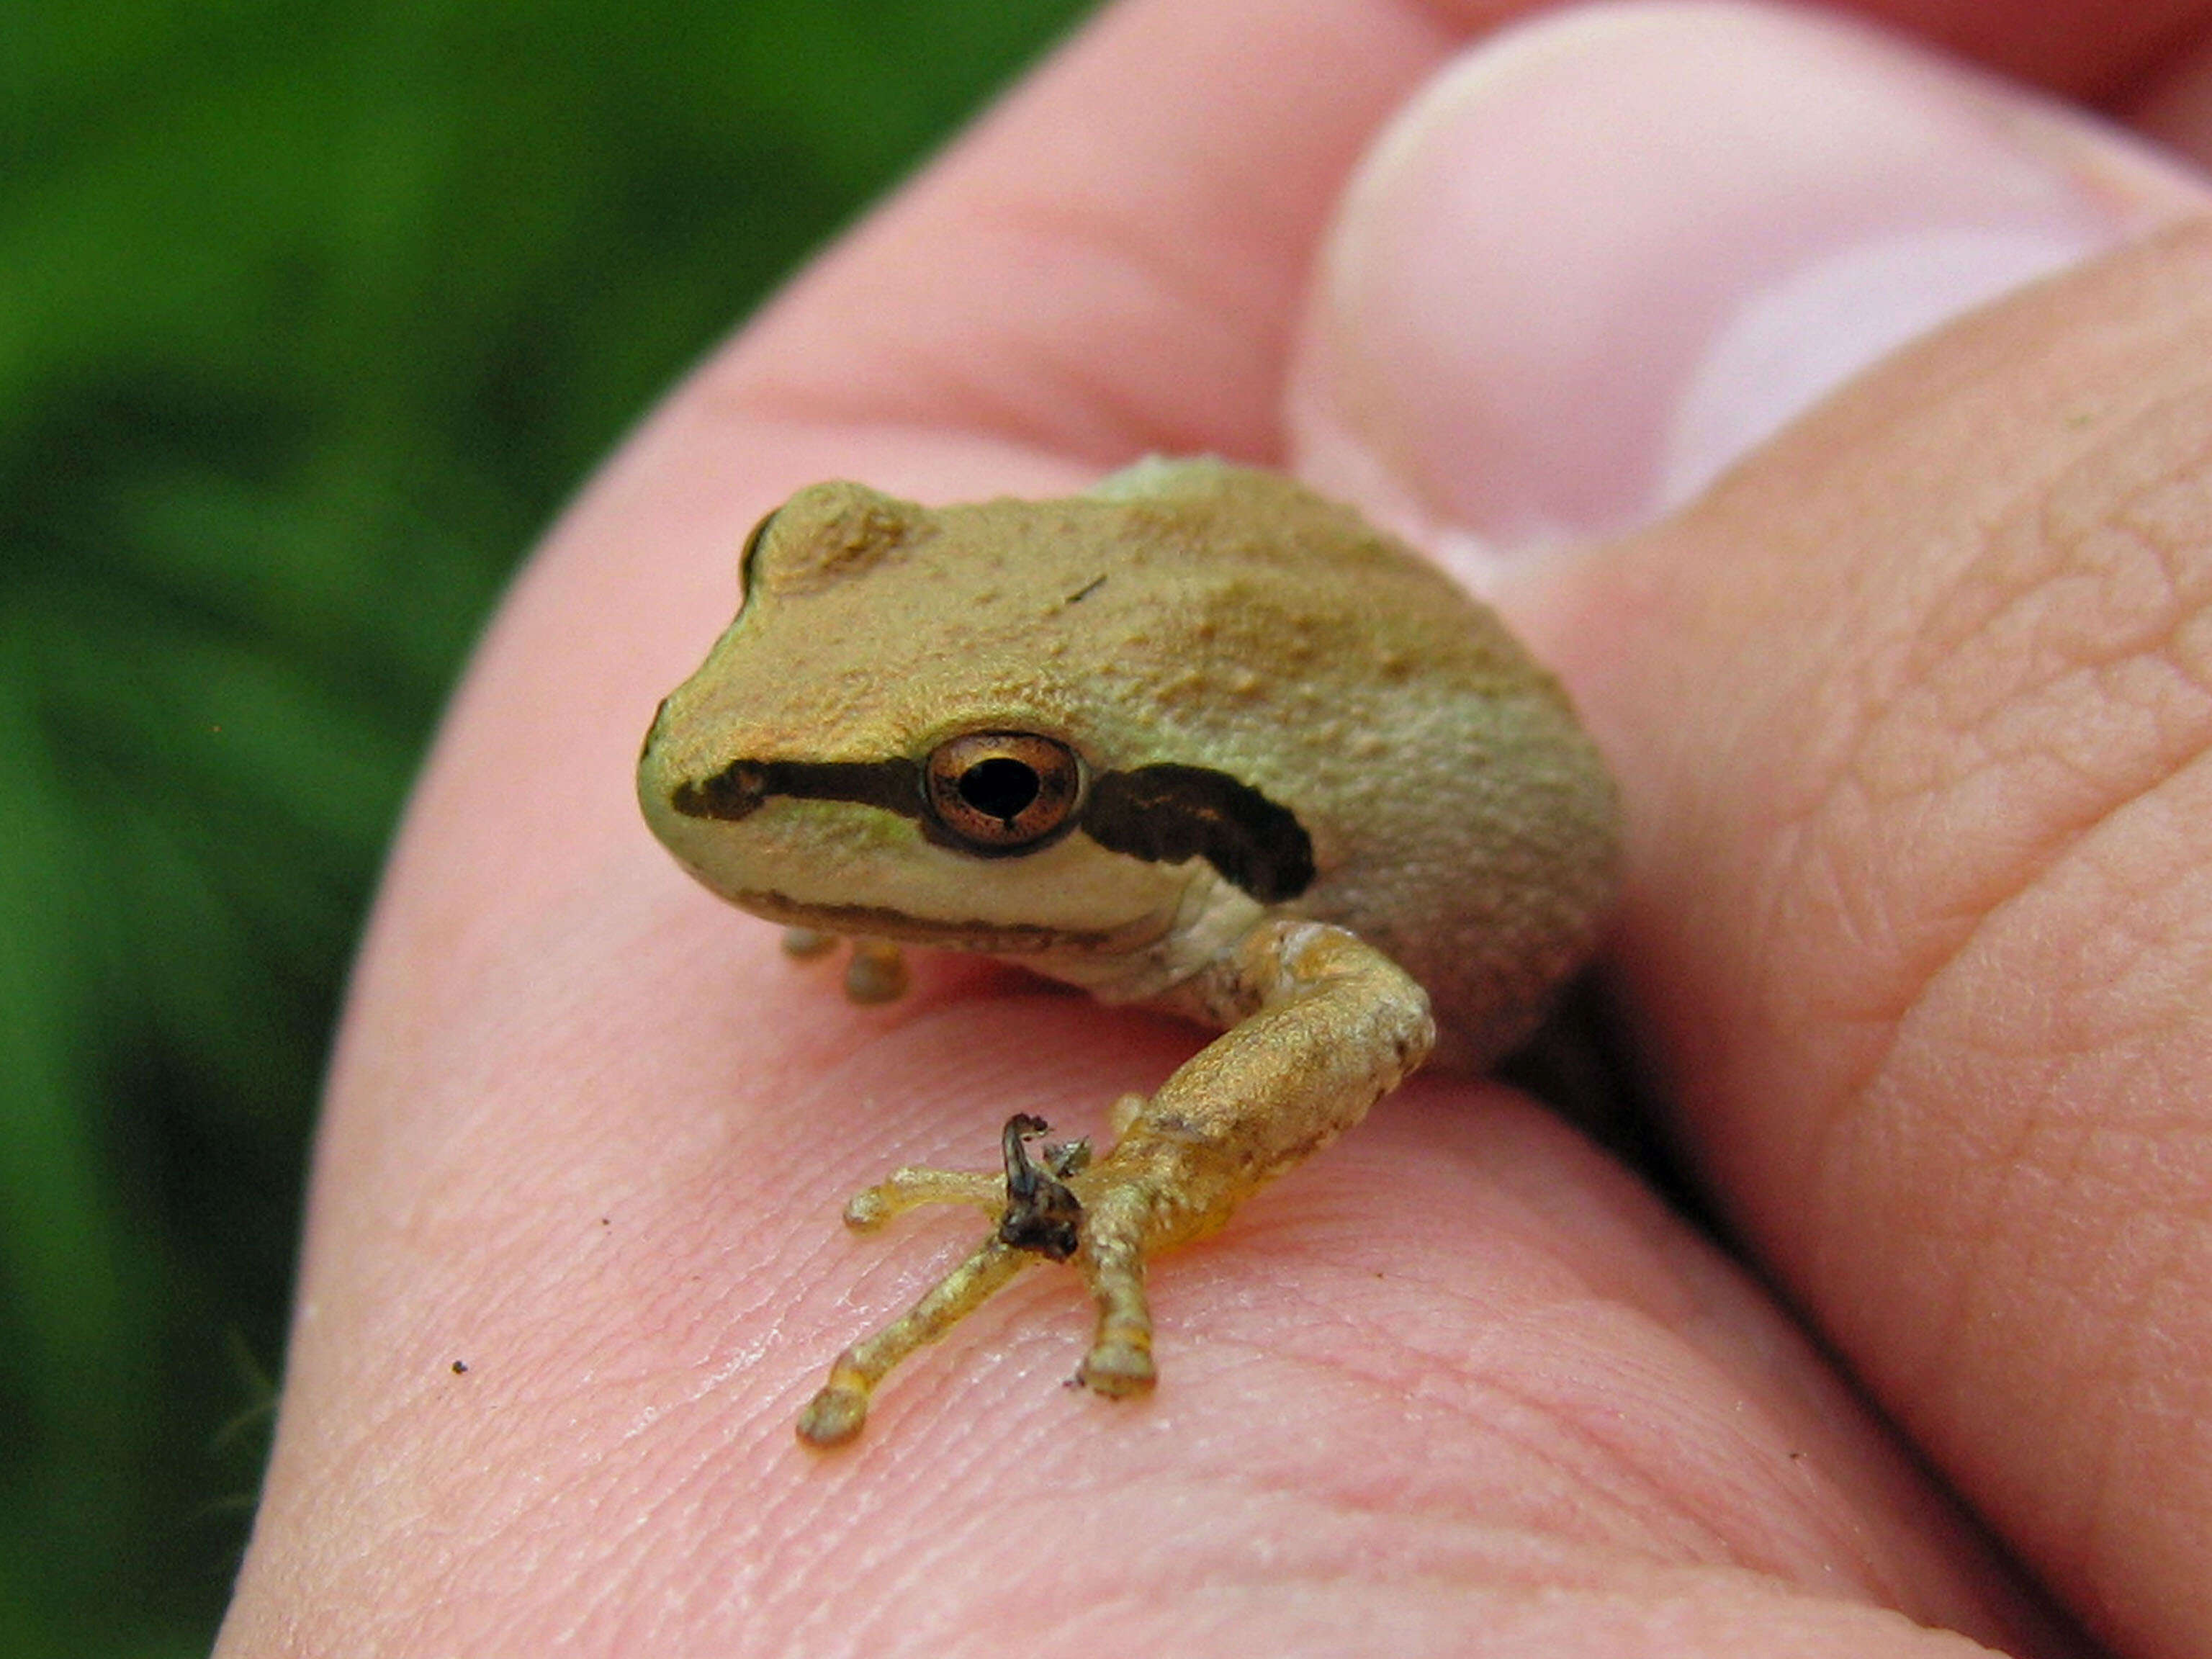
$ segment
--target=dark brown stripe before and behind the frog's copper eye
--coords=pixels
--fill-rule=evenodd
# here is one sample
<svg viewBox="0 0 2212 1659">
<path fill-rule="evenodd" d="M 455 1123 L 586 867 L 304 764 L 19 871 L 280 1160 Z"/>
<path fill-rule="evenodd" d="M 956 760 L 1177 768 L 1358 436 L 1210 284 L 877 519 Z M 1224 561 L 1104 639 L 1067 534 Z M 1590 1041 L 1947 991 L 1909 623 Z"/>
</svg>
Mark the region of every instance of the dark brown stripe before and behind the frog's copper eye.
<svg viewBox="0 0 2212 1659">
<path fill-rule="evenodd" d="M 670 805 L 688 818 L 734 821 L 779 796 L 880 807 L 914 818 L 940 845 L 960 845 L 925 810 L 920 765 L 907 759 L 732 761 L 699 783 L 679 783 Z M 1263 905 L 1296 898 L 1314 880 L 1314 843 L 1298 814 L 1203 765 L 1164 763 L 1102 774 L 1091 785 L 1082 830 L 1108 852 L 1130 858 L 1164 865 L 1203 858 Z M 1011 847 L 1000 856 L 1024 852 L 1035 847 Z"/>
</svg>

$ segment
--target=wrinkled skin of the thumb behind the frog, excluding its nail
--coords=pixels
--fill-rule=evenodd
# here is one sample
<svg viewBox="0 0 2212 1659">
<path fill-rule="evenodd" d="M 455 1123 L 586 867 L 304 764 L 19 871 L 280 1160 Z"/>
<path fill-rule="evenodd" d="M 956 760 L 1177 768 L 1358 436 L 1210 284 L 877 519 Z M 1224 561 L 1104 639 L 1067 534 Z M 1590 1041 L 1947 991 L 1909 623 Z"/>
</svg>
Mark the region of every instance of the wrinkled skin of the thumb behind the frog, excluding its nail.
<svg viewBox="0 0 2212 1659">
<path fill-rule="evenodd" d="M 1699 1157 L 1891 1416 L 2152 1655 L 2212 1644 L 2208 292 L 2201 228 L 2037 288 L 1582 595 L 1657 599 L 1586 686 Z"/>
</svg>

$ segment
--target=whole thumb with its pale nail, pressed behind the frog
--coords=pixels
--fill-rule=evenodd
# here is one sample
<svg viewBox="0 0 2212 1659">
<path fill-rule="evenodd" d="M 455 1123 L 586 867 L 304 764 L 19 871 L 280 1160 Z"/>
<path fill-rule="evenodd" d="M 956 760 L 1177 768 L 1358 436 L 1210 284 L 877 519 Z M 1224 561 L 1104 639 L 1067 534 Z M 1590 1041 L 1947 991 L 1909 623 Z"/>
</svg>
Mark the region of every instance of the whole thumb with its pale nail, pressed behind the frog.
<svg viewBox="0 0 2212 1659">
<path fill-rule="evenodd" d="M 1679 518 L 1515 588 L 1624 774 L 1628 973 L 1732 1214 L 1885 1405 L 2108 1635 L 2201 1652 L 2212 248 L 2137 243 L 1823 398 L 1944 310 L 2064 272 L 2199 190 L 1825 31 L 1677 24 L 1553 33 L 1522 80 L 1489 66 L 1385 150 L 1374 190 L 1422 166 L 1464 179 L 1453 155 L 1544 166 L 1564 84 L 1670 135 L 1655 157 L 1579 155 L 1595 179 L 1491 181 L 1473 230 L 1411 190 L 1354 206 L 1347 237 L 1400 241 L 1338 248 L 1340 265 L 1449 290 L 1489 270 L 1458 248 L 1480 237 L 1522 288 L 1438 338 L 1447 307 L 1418 292 L 1338 285 L 1327 325 L 1352 345 L 1310 396 L 1334 398 L 1343 440 L 1332 462 L 1323 429 L 1316 458 L 1349 453 L 1369 484 L 1475 529 L 1511 535 L 1537 509 L 1588 529 L 1668 500 L 1683 409 L 1717 403 L 1741 445 L 1820 400 Z M 1694 108 L 1668 113 L 1674 88 Z M 1584 234 L 1590 199 L 1624 197 L 1641 204 L 1626 248 Z M 1944 254 L 1960 228 L 1980 257 Z M 1701 263 L 1703 237 L 1723 259 Z M 1867 248 L 1896 263 L 1856 283 Z M 1661 338 L 1582 369 L 1573 338 L 1526 343 L 1551 307 Z M 1396 349 L 1363 327 L 1398 327 Z M 1829 352 L 1845 330 L 1851 349 Z M 1783 396 L 1743 367 L 1745 334 Z M 1553 352 L 1573 396 L 1544 383 Z M 1535 429 L 1528 451 L 1582 442 L 1604 487 L 1542 456 L 1495 462 L 1444 425 L 1451 367 L 1493 427 Z M 1608 387 L 1608 367 L 1637 385 Z"/>
</svg>

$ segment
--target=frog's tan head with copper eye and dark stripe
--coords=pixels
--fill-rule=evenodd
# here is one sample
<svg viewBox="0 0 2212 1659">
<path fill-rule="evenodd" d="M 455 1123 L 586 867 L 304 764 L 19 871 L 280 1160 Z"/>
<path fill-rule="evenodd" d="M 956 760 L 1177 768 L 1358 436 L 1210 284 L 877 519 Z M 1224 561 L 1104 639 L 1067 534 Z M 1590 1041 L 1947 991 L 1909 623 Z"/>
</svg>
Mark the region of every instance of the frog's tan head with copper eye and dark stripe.
<svg viewBox="0 0 2212 1659">
<path fill-rule="evenodd" d="M 772 920 L 1002 956 L 1135 949 L 1210 889 L 1294 896 L 1298 818 L 1099 695 L 1115 588 L 1144 588 L 1115 513 L 794 495 L 646 737 L 653 832 Z"/>
</svg>

